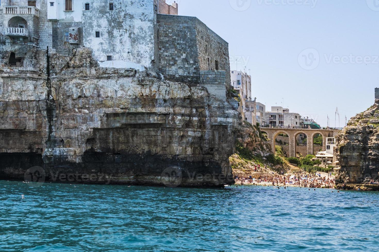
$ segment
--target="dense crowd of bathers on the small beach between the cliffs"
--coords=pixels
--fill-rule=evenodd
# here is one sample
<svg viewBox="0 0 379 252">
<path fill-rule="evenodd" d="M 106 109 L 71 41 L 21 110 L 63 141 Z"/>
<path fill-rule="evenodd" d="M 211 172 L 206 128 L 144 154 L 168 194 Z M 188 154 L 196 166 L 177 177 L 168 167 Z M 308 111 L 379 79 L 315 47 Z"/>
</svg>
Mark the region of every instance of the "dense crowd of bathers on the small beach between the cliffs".
<svg viewBox="0 0 379 252">
<path fill-rule="evenodd" d="M 236 182 L 241 185 L 265 185 L 265 186 L 293 186 L 293 187 L 308 187 L 308 188 L 335 188 L 335 179 L 331 173 L 322 177 L 320 173 L 315 174 L 292 174 L 285 176 L 282 174 L 273 176 L 259 177 L 236 177 Z"/>
</svg>

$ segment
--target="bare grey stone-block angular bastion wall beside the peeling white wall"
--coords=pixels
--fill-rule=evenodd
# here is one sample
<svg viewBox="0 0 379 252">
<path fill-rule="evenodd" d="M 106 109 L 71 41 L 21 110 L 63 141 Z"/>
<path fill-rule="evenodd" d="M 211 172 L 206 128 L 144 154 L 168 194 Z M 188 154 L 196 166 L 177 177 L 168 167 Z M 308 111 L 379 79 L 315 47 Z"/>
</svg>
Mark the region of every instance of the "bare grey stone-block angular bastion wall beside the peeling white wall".
<svg viewBox="0 0 379 252">
<path fill-rule="evenodd" d="M 168 79 L 200 82 L 200 70 L 226 71 L 230 83 L 228 44 L 196 17 L 158 15 L 159 70 Z M 210 65 L 208 67 L 208 58 Z"/>
</svg>

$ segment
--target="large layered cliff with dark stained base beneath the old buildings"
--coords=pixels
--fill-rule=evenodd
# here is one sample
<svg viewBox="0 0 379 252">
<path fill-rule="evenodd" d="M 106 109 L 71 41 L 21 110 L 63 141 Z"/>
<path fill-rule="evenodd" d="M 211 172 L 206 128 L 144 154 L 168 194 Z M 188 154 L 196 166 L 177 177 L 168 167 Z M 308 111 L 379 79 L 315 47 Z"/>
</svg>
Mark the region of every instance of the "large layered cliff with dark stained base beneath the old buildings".
<svg viewBox="0 0 379 252">
<path fill-rule="evenodd" d="M 233 183 L 235 100 L 148 70 L 98 67 L 88 48 L 38 53 L 39 72 L 0 70 L 0 179 Z"/>
</svg>

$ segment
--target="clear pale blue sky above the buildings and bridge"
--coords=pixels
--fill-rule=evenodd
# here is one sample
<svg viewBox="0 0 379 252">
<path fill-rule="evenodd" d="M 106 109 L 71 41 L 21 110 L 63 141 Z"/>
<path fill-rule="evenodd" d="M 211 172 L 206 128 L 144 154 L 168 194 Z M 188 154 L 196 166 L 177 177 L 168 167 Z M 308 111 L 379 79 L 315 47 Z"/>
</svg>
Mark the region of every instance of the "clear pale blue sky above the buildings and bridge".
<svg viewBox="0 0 379 252">
<path fill-rule="evenodd" d="M 337 106 L 345 126 L 345 115 L 349 119 L 374 103 L 374 88 L 379 87 L 379 0 L 177 2 L 179 15 L 198 17 L 229 42 L 232 70 L 236 58 L 237 70 L 244 65 L 251 69 L 252 96 L 266 104 L 266 110 L 280 106 L 284 98 L 291 112 L 322 126 L 329 115 L 334 127 Z M 303 52 L 308 48 L 313 49 Z"/>
</svg>

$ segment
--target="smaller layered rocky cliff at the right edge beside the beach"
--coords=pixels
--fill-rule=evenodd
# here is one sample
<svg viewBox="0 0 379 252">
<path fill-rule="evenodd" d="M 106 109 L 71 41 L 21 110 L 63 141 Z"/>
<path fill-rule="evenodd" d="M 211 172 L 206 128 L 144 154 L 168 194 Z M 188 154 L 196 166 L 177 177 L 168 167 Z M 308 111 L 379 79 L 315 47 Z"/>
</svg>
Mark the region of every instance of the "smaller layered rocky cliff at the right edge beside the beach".
<svg viewBox="0 0 379 252">
<path fill-rule="evenodd" d="M 341 169 L 339 183 L 366 184 L 379 174 L 379 100 L 363 113 L 352 117 L 336 137 L 335 155 Z M 337 180 L 338 180 L 337 179 Z"/>
</svg>

